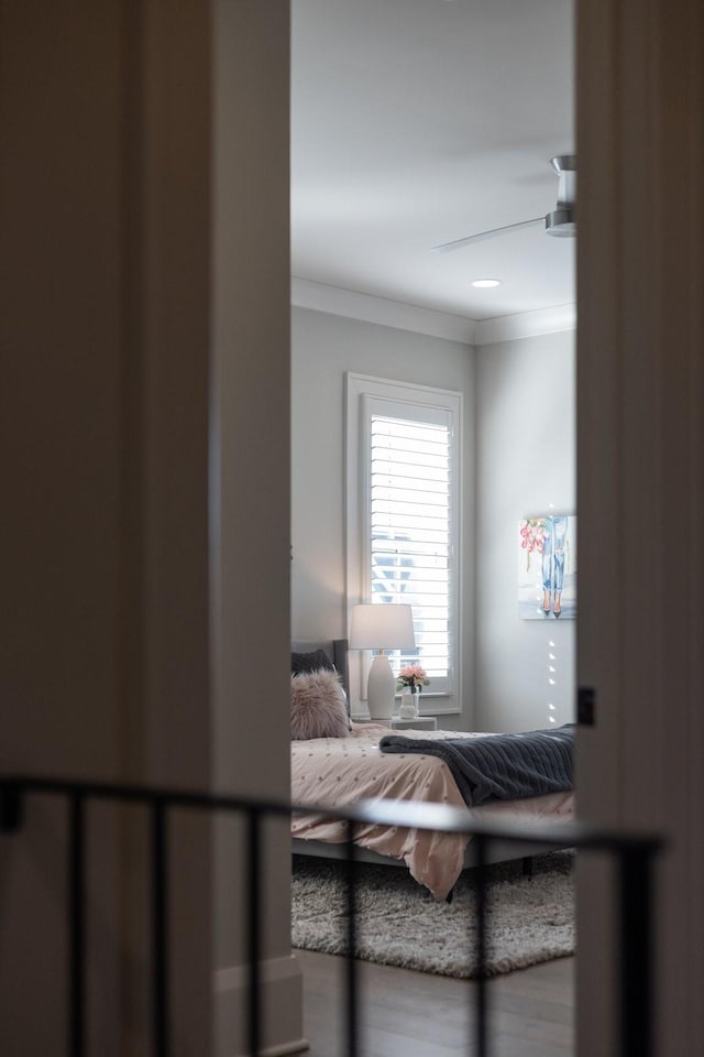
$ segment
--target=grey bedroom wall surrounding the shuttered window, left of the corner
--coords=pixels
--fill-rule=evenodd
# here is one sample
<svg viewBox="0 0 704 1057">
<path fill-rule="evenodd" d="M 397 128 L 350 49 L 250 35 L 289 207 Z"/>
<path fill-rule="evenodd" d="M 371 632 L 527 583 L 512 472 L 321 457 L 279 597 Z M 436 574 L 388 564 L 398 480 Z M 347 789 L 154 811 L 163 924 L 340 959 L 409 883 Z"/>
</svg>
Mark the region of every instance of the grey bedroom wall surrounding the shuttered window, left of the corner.
<svg viewBox="0 0 704 1057">
<path fill-rule="evenodd" d="M 438 385 L 464 394 L 464 536 L 473 551 L 474 352 L 462 342 L 307 308 L 292 327 L 292 635 L 344 636 L 344 374 Z M 446 727 L 474 724 L 473 574 L 463 576 L 463 710 Z M 466 728 L 465 728 L 466 729 Z"/>
</svg>

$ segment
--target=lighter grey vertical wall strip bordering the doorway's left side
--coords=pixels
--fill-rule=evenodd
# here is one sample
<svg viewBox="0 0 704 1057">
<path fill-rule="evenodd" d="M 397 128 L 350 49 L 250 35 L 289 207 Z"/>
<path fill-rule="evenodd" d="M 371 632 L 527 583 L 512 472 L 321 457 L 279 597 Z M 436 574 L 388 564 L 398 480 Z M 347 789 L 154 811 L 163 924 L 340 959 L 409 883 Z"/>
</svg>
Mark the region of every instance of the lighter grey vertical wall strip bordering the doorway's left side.
<svg viewBox="0 0 704 1057">
<path fill-rule="evenodd" d="M 290 641 L 289 4 L 218 0 L 213 12 L 211 782 L 220 792 L 283 802 L 290 791 L 288 709 L 278 707 L 288 698 Z M 256 673 L 246 694 L 243 671 Z M 220 819 L 213 854 L 217 1057 L 249 1051 L 241 828 L 237 836 Z M 302 982 L 290 957 L 286 820 L 266 825 L 264 844 L 262 1051 L 298 1053 Z"/>
</svg>

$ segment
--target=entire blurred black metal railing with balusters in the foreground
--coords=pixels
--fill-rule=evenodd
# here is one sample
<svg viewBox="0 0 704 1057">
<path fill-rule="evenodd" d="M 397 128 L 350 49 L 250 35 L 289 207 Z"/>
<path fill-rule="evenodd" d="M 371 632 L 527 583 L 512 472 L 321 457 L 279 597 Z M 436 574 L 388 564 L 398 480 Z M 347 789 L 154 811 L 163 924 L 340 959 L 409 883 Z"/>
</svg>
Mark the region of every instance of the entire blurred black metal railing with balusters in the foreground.
<svg viewBox="0 0 704 1057">
<path fill-rule="evenodd" d="M 525 841 L 602 850 L 614 856 L 619 864 L 620 936 L 618 944 L 622 993 L 620 1057 L 652 1057 L 652 870 L 662 841 L 651 832 L 622 832 L 586 822 L 569 821 L 550 826 L 522 824 L 505 819 L 474 820 L 468 811 L 446 804 L 419 804 L 410 800 L 361 800 L 353 807 L 326 804 L 290 804 L 277 799 L 232 796 L 198 789 L 153 787 L 118 782 L 94 782 L 31 775 L 0 775 L 0 828 L 19 831 L 28 794 L 55 794 L 67 799 L 69 809 L 69 906 L 72 941 L 69 945 L 70 1016 L 68 1054 L 84 1057 L 85 1050 L 85 807 L 86 800 L 113 800 L 142 804 L 151 813 L 152 945 L 153 945 L 153 1050 L 155 1057 L 169 1054 L 168 1007 L 168 876 L 167 813 L 173 808 L 227 811 L 244 815 L 248 820 L 246 895 L 249 1011 L 248 1044 L 252 1057 L 261 1053 L 260 951 L 263 918 L 261 867 L 261 824 L 264 817 L 290 817 L 293 814 L 316 814 L 346 824 L 346 900 L 349 933 L 346 957 L 346 1053 L 358 1057 L 358 1007 L 355 949 L 355 844 L 354 825 L 399 826 L 472 836 L 476 844 L 477 889 L 477 1057 L 488 1057 L 486 1016 L 485 901 L 484 872 L 486 844 L 492 839 Z"/>
</svg>

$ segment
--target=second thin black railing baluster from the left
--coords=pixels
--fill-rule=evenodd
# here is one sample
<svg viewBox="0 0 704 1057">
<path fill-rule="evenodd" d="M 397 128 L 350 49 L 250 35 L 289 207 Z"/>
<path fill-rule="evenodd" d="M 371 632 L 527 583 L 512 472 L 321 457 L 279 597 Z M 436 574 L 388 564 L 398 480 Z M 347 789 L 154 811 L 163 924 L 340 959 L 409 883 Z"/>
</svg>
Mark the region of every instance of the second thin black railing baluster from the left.
<svg viewBox="0 0 704 1057">
<path fill-rule="evenodd" d="M 152 802 L 152 957 L 155 1057 L 168 1057 L 168 891 L 166 879 L 166 804 Z"/>
</svg>

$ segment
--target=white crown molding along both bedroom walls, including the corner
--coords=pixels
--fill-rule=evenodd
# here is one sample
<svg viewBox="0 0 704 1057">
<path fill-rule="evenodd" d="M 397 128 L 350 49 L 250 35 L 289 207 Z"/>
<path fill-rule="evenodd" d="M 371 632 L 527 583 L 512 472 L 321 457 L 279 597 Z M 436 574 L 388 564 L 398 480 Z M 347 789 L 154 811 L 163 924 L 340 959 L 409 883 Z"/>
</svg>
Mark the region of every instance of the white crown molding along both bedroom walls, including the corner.
<svg viewBox="0 0 704 1057">
<path fill-rule="evenodd" d="M 519 312 L 494 319 L 470 319 L 433 308 L 405 305 L 386 297 L 360 294 L 342 286 L 314 283 L 307 279 L 292 277 L 292 304 L 299 308 L 312 308 L 348 319 L 377 323 L 384 327 L 413 330 L 433 338 L 461 341 L 463 345 L 496 345 L 499 341 L 516 341 L 541 334 L 574 330 L 576 305 L 556 305 L 534 312 Z"/>
</svg>

